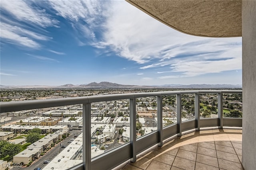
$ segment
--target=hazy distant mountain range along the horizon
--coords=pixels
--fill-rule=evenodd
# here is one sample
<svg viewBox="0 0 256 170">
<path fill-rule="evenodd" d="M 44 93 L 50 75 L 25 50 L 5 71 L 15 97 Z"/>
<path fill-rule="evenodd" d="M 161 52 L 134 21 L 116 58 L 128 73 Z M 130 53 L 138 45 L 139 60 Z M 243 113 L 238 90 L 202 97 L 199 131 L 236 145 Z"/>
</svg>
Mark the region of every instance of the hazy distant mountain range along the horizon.
<svg viewBox="0 0 256 170">
<path fill-rule="evenodd" d="M 149 86 L 136 86 L 136 85 L 123 85 L 111 82 L 92 82 L 89 84 L 64 84 L 62 86 L 3 86 L 0 85 L 0 88 L 89 88 L 89 89 L 108 89 L 108 88 L 242 88 L 240 84 L 164 84 L 164 85 L 149 85 Z"/>
</svg>

